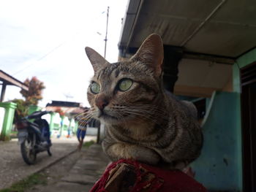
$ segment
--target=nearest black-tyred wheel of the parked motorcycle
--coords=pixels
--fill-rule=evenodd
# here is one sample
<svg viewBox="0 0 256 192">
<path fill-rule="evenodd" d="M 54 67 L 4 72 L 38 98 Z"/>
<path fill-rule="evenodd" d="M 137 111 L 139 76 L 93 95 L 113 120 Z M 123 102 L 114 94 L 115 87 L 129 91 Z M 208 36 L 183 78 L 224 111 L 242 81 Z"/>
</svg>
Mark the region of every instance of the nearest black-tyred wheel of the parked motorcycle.
<svg viewBox="0 0 256 192">
<path fill-rule="evenodd" d="M 36 145 L 36 135 L 32 134 L 20 145 L 21 155 L 26 164 L 34 164 L 37 159 L 37 153 L 34 149 Z"/>
</svg>

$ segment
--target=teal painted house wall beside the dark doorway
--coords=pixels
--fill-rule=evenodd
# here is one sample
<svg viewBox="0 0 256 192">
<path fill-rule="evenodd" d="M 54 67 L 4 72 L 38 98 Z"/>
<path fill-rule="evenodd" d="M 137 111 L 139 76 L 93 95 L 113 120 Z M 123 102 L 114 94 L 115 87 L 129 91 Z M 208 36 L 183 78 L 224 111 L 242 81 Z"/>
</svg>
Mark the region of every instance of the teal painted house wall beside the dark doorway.
<svg viewBox="0 0 256 192">
<path fill-rule="evenodd" d="M 241 191 L 241 129 L 239 93 L 216 92 L 203 120 L 204 144 L 192 164 L 195 179 L 208 191 Z"/>
</svg>

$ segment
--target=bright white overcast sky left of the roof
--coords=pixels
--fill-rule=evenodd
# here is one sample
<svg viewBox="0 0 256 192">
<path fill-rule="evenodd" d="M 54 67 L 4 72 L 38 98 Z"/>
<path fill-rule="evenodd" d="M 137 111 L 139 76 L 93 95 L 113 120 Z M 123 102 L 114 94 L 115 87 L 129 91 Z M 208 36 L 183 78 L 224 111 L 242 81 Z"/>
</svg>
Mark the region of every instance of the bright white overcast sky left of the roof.
<svg viewBox="0 0 256 192">
<path fill-rule="evenodd" d="M 89 106 L 93 70 L 84 48 L 104 55 L 108 6 L 106 58 L 116 62 L 127 0 L 0 0 L 0 69 L 22 82 L 33 76 L 44 82 L 41 107 L 51 100 Z M 7 86 L 4 101 L 21 99 L 19 91 Z"/>
</svg>

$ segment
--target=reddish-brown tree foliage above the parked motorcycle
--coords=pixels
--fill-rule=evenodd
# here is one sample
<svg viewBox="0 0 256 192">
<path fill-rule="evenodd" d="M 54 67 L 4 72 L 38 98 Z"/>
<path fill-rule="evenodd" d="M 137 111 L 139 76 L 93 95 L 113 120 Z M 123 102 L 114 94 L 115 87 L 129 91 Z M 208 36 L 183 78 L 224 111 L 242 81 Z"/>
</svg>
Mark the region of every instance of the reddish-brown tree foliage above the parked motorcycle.
<svg viewBox="0 0 256 192">
<path fill-rule="evenodd" d="M 29 91 L 21 90 L 20 93 L 26 99 L 26 104 L 37 105 L 38 101 L 42 100 L 42 90 L 45 88 L 44 83 L 39 81 L 37 77 L 32 77 L 31 80 L 27 78 L 24 84 L 28 85 Z"/>
</svg>

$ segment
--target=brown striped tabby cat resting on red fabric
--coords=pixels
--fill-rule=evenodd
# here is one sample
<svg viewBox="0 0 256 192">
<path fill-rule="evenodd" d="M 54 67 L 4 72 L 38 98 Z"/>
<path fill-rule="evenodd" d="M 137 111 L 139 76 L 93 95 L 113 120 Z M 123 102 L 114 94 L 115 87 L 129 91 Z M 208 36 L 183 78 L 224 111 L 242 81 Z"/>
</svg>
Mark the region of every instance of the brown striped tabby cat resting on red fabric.
<svg viewBox="0 0 256 192">
<path fill-rule="evenodd" d="M 132 158 L 183 169 L 200 155 L 203 137 L 193 104 L 163 88 L 162 39 L 151 34 L 128 61 L 108 63 L 86 47 L 94 69 L 90 116 L 105 124 L 102 142 L 112 161 Z"/>
</svg>

